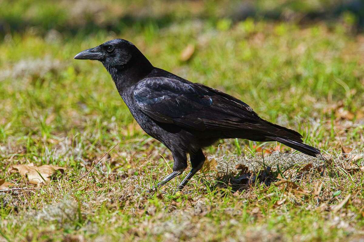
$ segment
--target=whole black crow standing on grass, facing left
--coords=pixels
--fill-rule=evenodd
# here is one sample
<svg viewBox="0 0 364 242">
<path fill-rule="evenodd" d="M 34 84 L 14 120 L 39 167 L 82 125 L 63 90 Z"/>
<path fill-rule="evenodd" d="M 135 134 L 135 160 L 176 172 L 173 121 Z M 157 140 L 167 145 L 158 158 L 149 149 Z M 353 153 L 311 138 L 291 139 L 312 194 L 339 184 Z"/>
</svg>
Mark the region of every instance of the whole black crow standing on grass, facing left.
<svg viewBox="0 0 364 242">
<path fill-rule="evenodd" d="M 178 186 L 183 188 L 205 161 L 202 148 L 219 139 L 278 141 L 310 156 L 321 155 L 298 132 L 261 119 L 239 99 L 154 67 L 127 40 L 107 41 L 74 58 L 103 63 L 142 129 L 170 149 L 173 172 L 158 187 L 181 175 L 189 153 L 192 169 Z"/>
</svg>

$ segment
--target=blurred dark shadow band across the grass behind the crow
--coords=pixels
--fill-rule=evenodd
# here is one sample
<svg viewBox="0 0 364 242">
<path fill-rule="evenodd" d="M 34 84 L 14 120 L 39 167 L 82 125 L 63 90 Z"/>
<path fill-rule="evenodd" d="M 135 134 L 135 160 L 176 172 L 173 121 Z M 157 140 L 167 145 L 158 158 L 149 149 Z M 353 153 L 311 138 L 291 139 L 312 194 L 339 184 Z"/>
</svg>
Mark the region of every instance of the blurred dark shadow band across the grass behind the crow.
<svg viewBox="0 0 364 242">
<path fill-rule="evenodd" d="M 167 3 L 166 3 L 167 4 Z M 56 4 L 55 4 L 56 5 Z M 199 13 L 187 13 L 182 19 L 201 19 L 209 20 L 212 24 L 221 18 L 232 19 L 234 22 L 245 20 L 248 17 L 253 19 L 266 19 L 277 21 L 293 21 L 300 25 L 312 24 L 317 21 L 337 21 L 339 17 L 346 12 L 351 13 L 352 21 L 357 32 L 363 30 L 364 27 L 364 2 L 361 0 L 338 1 L 335 4 L 326 4 L 321 8 L 305 9 L 305 5 L 300 1 L 288 1 L 283 4 L 276 4 L 271 10 L 261 9 L 258 2 L 244 2 L 227 4 L 230 7 L 226 8 L 223 15 L 217 15 L 214 11 L 204 9 Z M 204 6 L 203 8 L 206 8 Z M 233 10 L 229 10 L 232 8 Z M 135 10 L 134 10 L 135 11 Z M 123 16 L 115 16 L 112 21 L 100 23 L 98 17 L 95 16 L 80 16 L 83 18 L 82 24 L 76 24 L 72 21 L 67 21 L 67 12 L 57 12 L 48 15 L 6 15 L 0 16 L 0 36 L 5 33 L 23 33 L 29 28 L 35 28 L 41 34 L 46 34 L 51 29 L 57 30 L 63 34 L 74 36 L 76 34 L 89 35 L 97 34 L 100 31 L 112 31 L 116 34 L 123 32 L 130 27 L 144 28 L 149 25 L 163 28 L 175 22 L 181 21 L 178 17 L 179 10 L 173 9 L 165 13 L 153 15 L 135 16 L 131 13 L 126 13 Z"/>
</svg>

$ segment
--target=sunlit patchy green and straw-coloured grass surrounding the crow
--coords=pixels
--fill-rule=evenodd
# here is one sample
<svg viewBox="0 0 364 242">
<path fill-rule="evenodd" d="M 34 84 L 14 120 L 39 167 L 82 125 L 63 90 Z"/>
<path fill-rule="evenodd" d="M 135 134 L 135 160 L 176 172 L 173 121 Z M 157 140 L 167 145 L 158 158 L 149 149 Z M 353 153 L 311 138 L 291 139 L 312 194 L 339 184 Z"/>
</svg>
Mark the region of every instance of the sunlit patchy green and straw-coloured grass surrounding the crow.
<svg viewBox="0 0 364 242">
<path fill-rule="evenodd" d="M 0 241 L 363 239 L 363 171 L 348 168 L 363 166 L 363 158 L 341 154 L 342 145 L 359 157 L 364 148 L 364 36 L 353 30 L 354 15 L 305 25 L 233 21 L 227 12 L 234 1 L 173 2 L 170 11 L 158 7 L 161 1 L 140 17 L 142 1 L 106 1 L 96 10 L 78 1 L 83 10 L 73 21 L 67 3 L 0 2 L 7 6 L 0 11 L 11 9 L 1 15 L 0 178 L 34 188 L 8 168 L 67 167 L 39 189 L 0 192 Z M 106 15 L 104 22 L 92 11 Z M 263 164 L 259 147 L 276 143 L 221 140 L 205 149 L 216 168 L 198 173 L 182 192 L 174 188 L 186 173 L 148 193 L 171 171 L 170 151 L 139 128 L 99 62 L 73 60 L 116 37 L 133 42 L 154 66 L 232 94 L 262 118 L 299 131 L 329 158 L 327 169 L 320 175 L 322 161 L 291 149 L 265 153 Z M 189 44 L 195 52 L 181 61 Z M 280 168 L 308 193 L 232 184 L 235 164 Z"/>
</svg>

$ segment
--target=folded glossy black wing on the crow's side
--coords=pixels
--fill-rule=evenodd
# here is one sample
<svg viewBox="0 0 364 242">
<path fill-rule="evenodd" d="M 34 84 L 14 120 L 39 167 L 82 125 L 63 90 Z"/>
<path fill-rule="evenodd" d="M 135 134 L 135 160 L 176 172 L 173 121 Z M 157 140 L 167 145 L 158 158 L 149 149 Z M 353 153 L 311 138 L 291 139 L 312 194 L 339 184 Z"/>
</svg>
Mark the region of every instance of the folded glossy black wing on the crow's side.
<svg viewBox="0 0 364 242">
<path fill-rule="evenodd" d="M 151 77 L 139 82 L 134 99 L 150 118 L 196 130 L 239 130 L 262 120 L 248 104 L 230 95 L 173 78 Z"/>
</svg>

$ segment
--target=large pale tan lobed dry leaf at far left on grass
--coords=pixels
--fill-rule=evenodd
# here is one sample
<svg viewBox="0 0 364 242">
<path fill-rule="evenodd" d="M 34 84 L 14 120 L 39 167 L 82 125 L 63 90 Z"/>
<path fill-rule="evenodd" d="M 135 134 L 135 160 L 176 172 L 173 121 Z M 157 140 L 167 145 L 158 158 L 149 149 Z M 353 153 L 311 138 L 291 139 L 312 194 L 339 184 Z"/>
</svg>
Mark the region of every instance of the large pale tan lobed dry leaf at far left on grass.
<svg viewBox="0 0 364 242">
<path fill-rule="evenodd" d="M 31 184 L 39 185 L 40 183 L 50 182 L 49 178 L 56 170 L 65 170 L 66 167 L 58 167 L 55 165 L 42 165 L 40 167 L 34 166 L 33 163 L 28 165 L 13 165 L 12 170 L 17 169 L 20 175 L 28 176 L 28 180 Z"/>
</svg>

